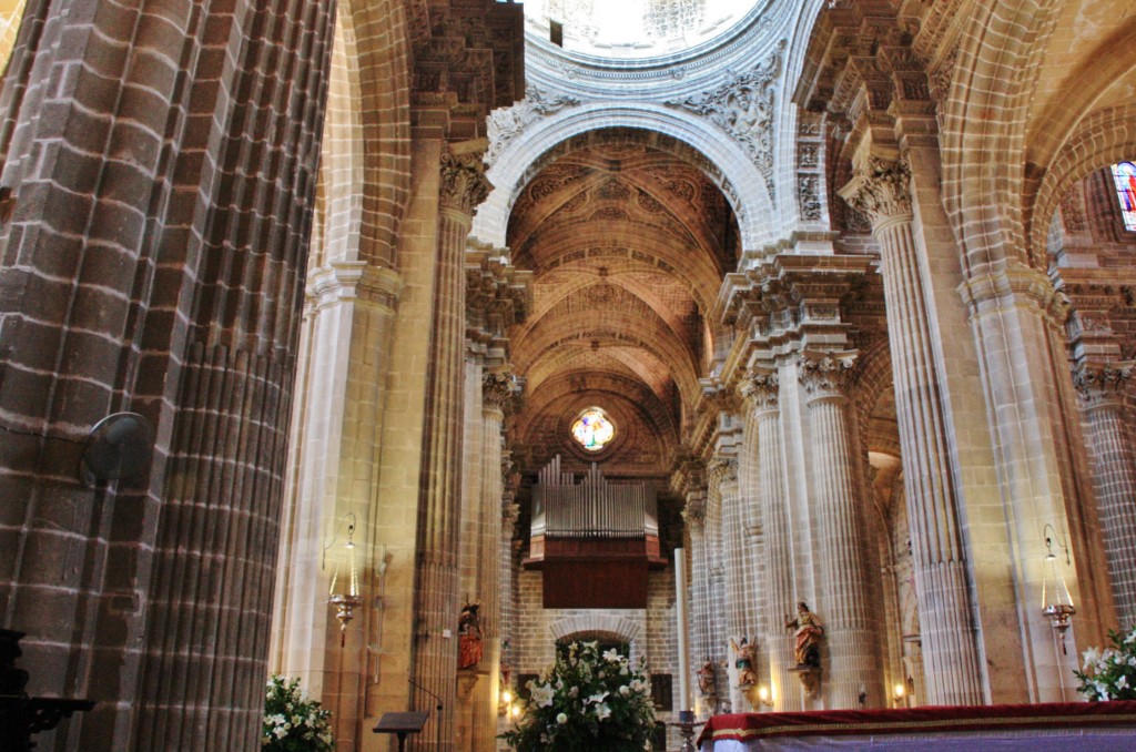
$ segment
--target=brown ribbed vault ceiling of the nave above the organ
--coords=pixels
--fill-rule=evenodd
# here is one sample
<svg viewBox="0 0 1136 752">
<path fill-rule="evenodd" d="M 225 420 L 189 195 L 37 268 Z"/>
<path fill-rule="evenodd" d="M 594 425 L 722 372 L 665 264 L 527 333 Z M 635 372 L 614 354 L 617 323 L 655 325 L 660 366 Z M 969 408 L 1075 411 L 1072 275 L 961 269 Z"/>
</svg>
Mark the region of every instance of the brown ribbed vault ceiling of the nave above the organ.
<svg viewBox="0 0 1136 752">
<path fill-rule="evenodd" d="M 536 466 L 598 404 L 624 435 L 605 465 L 658 474 L 700 394 L 702 316 L 736 267 L 736 222 L 696 167 L 648 140 L 607 131 L 545 164 L 513 204 L 512 260 L 534 273 L 532 314 L 512 334 L 528 395 L 517 428 Z"/>
</svg>

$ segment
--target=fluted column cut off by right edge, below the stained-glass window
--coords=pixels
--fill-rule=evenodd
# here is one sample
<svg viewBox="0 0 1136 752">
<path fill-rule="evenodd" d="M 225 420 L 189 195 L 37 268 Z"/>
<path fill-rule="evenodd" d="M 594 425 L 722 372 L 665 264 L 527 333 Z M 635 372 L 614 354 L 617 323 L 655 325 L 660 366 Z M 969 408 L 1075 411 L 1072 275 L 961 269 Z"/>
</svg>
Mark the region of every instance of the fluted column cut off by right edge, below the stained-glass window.
<svg viewBox="0 0 1136 752">
<path fill-rule="evenodd" d="M 1136 451 L 1125 419 L 1125 388 L 1136 364 L 1083 364 L 1074 375 L 1092 449 L 1109 578 L 1120 628 L 1136 626 Z"/>
</svg>

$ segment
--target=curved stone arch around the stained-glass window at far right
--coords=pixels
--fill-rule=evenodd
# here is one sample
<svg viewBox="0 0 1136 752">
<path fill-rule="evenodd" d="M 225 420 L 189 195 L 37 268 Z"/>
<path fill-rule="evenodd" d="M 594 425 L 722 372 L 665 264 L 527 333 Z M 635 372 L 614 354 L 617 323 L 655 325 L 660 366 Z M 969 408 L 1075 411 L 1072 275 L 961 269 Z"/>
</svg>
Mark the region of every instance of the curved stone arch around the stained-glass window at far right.
<svg viewBox="0 0 1136 752">
<path fill-rule="evenodd" d="M 1136 103 L 1099 110 L 1086 117 L 1066 141 L 1042 178 L 1033 204 L 1030 247 L 1045 250 L 1050 220 L 1061 198 L 1093 170 L 1136 153 Z"/>
</svg>

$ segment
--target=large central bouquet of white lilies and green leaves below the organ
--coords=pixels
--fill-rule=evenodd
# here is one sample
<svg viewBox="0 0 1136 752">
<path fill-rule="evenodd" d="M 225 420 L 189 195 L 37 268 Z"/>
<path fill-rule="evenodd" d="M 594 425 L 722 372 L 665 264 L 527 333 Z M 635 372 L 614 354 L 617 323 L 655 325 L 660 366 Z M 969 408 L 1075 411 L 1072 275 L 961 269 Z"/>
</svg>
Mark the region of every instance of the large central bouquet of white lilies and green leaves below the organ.
<svg viewBox="0 0 1136 752">
<path fill-rule="evenodd" d="M 531 696 L 516 728 L 501 735 L 518 752 L 637 752 L 654 732 L 651 682 L 642 662 L 617 650 L 571 643 L 528 683 Z"/>
</svg>

